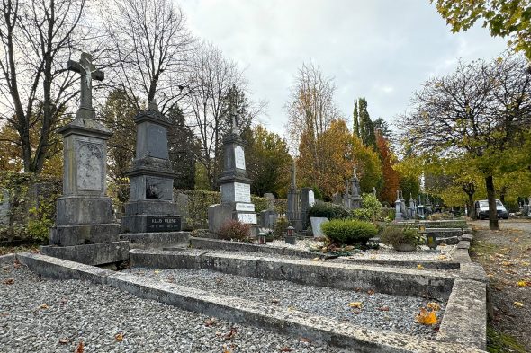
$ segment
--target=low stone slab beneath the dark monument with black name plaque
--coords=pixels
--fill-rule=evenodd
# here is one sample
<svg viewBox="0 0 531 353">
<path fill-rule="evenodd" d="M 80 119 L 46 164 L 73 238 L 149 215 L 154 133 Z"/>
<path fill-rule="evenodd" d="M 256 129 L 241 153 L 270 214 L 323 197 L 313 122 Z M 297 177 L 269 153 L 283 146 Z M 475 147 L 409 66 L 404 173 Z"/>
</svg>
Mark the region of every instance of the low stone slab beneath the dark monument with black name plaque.
<svg viewBox="0 0 531 353">
<path fill-rule="evenodd" d="M 124 233 L 120 239 L 128 241 L 131 249 L 157 249 L 165 247 L 188 247 L 189 232 Z"/>
</svg>

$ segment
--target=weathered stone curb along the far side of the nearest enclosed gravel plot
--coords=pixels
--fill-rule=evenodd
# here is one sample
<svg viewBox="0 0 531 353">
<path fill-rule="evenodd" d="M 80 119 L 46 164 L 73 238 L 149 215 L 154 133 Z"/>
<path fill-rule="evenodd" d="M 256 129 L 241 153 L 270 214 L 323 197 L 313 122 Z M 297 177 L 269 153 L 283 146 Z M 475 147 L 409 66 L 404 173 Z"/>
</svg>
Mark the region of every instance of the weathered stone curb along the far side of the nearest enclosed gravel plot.
<svg viewBox="0 0 531 353">
<path fill-rule="evenodd" d="M 397 296 L 447 298 L 455 274 L 342 262 L 276 259 L 197 250 L 132 250 L 133 266 L 157 269 L 210 269 L 238 276 L 289 280 L 303 285 L 376 290 Z"/>
</svg>

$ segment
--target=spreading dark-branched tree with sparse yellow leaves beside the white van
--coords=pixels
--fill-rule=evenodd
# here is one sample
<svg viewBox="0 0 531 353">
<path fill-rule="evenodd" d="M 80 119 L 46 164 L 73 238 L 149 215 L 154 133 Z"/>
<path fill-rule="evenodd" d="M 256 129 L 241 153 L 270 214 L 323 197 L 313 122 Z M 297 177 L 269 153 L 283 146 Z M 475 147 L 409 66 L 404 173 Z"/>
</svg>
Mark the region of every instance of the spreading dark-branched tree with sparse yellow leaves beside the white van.
<svg viewBox="0 0 531 353">
<path fill-rule="evenodd" d="M 402 137 L 419 154 L 472 159 L 482 174 L 490 227 L 498 229 L 494 176 L 529 165 L 511 157 L 531 124 L 531 72 L 522 57 L 459 63 L 455 73 L 433 78 L 413 98 Z"/>
</svg>

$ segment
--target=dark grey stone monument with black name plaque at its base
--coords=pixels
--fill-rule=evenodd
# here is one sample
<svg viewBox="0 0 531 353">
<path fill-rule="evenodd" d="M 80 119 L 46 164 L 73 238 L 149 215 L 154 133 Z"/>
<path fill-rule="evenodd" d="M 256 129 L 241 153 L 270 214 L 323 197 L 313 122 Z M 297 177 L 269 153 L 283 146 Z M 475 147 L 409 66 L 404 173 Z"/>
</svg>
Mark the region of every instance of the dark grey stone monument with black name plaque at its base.
<svg viewBox="0 0 531 353">
<path fill-rule="evenodd" d="M 130 171 L 130 201 L 121 217 L 121 232 L 131 234 L 178 232 L 181 217 L 174 202 L 174 177 L 167 148 L 171 119 L 149 103 L 135 117 L 137 152 Z M 122 236 L 123 238 L 123 236 Z"/>
</svg>

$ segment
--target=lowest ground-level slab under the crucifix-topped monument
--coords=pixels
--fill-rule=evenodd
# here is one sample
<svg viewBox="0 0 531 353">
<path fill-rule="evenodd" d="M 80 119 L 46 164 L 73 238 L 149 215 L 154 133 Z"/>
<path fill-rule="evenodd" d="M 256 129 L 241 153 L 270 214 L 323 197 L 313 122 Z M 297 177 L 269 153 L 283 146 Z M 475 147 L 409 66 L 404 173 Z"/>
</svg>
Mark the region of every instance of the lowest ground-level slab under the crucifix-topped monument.
<svg viewBox="0 0 531 353">
<path fill-rule="evenodd" d="M 41 246 L 40 253 L 85 265 L 105 265 L 129 259 L 129 242 L 97 243 L 74 246 Z"/>
</svg>

